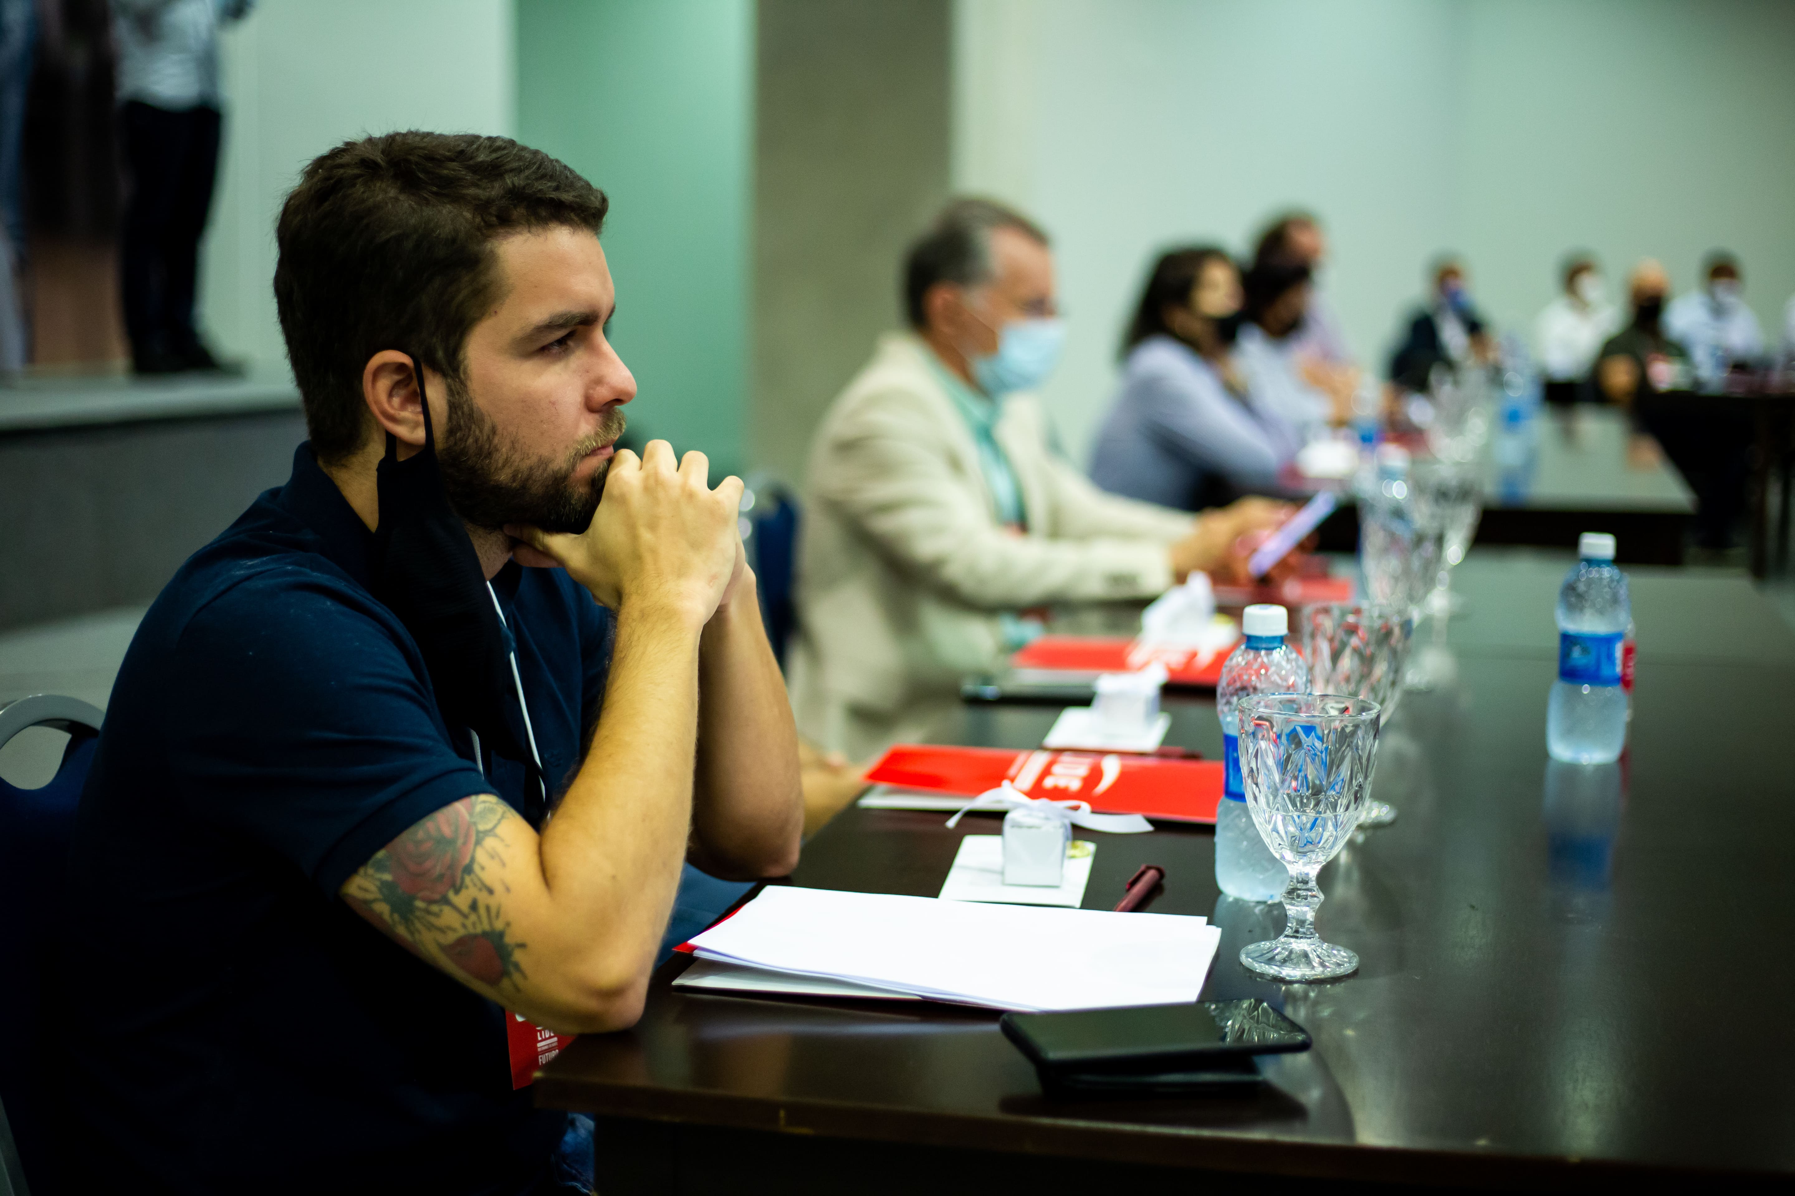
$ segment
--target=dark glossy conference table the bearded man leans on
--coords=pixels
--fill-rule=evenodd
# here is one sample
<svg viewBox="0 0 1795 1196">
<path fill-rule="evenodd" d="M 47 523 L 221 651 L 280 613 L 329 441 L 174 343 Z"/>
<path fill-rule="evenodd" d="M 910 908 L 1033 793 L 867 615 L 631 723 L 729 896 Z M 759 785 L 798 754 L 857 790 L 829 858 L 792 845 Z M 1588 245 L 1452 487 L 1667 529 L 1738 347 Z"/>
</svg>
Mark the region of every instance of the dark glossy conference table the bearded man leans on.
<svg viewBox="0 0 1795 1196">
<path fill-rule="evenodd" d="M 1328 1182 L 1563 1191 L 1795 1178 L 1795 633 L 1739 574 L 1632 568 L 1630 748 L 1553 766 L 1553 597 L 1569 559 L 1477 549 L 1467 611 L 1423 624 L 1432 689 L 1386 724 L 1391 827 L 1321 873 L 1319 931 L 1361 956 L 1321 984 L 1248 974 L 1282 909 L 1221 898 L 1208 828 L 1081 832 L 1084 907 L 1143 862 L 1154 913 L 1222 929 L 1204 999 L 1262 997 L 1314 1049 L 1255 1096 L 1057 1103 L 996 1015 L 698 995 L 655 974 L 643 1020 L 553 1060 L 537 1101 L 598 1124 L 612 1192 L 1267 1191 Z M 1169 696 L 1169 741 L 1221 751 L 1213 699 Z M 968 705 L 951 739 L 1034 748 L 1055 710 Z M 933 897 L 994 819 L 851 807 L 793 884 Z M 1201 1187 L 1197 1187 L 1201 1185 Z"/>
</svg>

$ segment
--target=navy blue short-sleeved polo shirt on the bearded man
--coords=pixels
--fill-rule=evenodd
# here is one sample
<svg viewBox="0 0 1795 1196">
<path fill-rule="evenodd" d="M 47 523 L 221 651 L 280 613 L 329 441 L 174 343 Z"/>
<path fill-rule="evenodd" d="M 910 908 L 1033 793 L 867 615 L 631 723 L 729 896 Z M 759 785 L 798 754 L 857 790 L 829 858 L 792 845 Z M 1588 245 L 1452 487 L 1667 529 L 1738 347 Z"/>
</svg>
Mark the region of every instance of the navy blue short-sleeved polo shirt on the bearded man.
<svg viewBox="0 0 1795 1196">
<path fill-rule="evenodd" d="M 337 888 L 472 760 L 373 536 L 311 446 L 188 559 L 113 687 L 75 828 L 65 1008 L 81 1153 L 117 1191 L 517 1192 L 565 1115 L 513 1092 L 503 1010 Z M 565 572 L 494 579 L 551 789 L 598 717 L 614 624 Z M 460 750 L 458 750 L 460 744 Z"/>
</svg>

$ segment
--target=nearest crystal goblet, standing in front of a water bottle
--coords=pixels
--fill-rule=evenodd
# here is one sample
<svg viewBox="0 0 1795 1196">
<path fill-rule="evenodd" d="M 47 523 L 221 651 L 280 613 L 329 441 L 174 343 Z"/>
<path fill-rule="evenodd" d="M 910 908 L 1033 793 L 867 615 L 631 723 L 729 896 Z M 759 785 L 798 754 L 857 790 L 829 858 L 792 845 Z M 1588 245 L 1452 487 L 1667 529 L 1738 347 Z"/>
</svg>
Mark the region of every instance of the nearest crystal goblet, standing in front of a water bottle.
<svg viewBox="0 0 1795 1196">
<path fill-rule="evenodd" d="M 1240 699 L 1240 775 L 1253 825 L 1291 871 L 1283 934 L 1240 949 L 1240 963 L 1280 981 L 1346 975 L 1359 956 L 1321 941 L 1316 873 L 1364 816 L 1377 760 L 1379 705 L 1341 694 Z"/>
</svg>

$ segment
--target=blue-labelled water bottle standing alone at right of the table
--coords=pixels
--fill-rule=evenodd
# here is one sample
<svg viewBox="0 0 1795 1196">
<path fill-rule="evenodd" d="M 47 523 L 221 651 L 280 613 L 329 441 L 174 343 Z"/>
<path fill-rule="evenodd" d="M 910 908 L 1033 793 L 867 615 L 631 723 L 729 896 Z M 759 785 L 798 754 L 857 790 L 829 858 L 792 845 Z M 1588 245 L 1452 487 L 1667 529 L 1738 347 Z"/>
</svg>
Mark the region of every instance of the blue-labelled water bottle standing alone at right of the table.
<svg viewBox="0 0 1795 1196">
<path fill-rule="evenodd" d="M 1626 574 L 1614 567 L 1614 536 L 1587 531 L 1578 563 L 1558 590 L 1558 680 L 1545 708 L 1554 760 L 1607 764 L 1626 746 L 1623 642 L 1632 611 Z"/>
</svg>

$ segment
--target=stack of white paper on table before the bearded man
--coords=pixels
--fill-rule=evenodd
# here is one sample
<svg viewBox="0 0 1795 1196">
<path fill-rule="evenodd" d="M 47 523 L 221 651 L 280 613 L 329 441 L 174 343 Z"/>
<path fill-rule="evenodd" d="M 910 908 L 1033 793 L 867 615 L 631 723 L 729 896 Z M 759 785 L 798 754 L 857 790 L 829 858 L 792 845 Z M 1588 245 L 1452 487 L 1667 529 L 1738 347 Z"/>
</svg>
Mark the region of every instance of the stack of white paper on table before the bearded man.
<svg viewBox="0 0 1795 1196">
<path fill-rule="evenodd" d="M 1219 941 L 1176 914 L 770 886 L 691 945 L 766 972 L 1043 1011 L 1195 1001 Z"/>
</svg>

